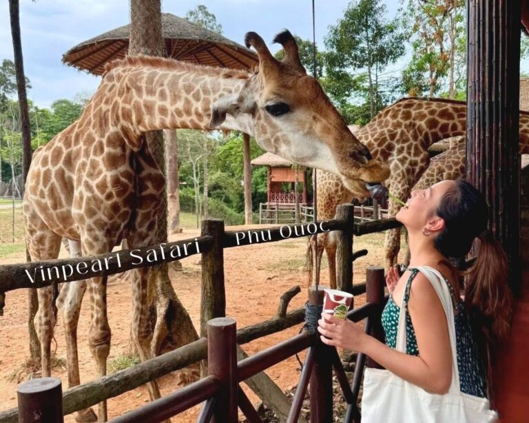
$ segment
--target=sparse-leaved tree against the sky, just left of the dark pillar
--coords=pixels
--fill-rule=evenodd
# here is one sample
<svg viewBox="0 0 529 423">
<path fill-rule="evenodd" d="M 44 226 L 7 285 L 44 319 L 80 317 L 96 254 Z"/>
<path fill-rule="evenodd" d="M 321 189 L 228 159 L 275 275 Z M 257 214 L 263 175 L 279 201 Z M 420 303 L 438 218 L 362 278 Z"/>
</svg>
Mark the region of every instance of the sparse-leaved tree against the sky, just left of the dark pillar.
<svg viewBox="0 0 529 423">
<path fill-rule="evenodd" d="M 455 98 L 457 68 L 464 68 L 464 0 L 408 0 L 403 11 L 412 59 L 404 70 L 403 90 L 411 96 L 434 96 L 448 77 L 448 97 Z"/>
</svg>

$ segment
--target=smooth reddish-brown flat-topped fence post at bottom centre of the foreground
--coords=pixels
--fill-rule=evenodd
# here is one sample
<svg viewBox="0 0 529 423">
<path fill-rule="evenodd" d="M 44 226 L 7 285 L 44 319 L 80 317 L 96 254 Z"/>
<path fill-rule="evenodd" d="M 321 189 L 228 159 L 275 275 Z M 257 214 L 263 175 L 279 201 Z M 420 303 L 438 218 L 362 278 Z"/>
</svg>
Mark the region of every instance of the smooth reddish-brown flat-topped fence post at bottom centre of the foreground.
<svg viewBox="0 0 529 423">
<path fill-rule="evenodd" d="M 207 322 L 207 361 L 209 374 L 224 384 L 214 405 L 214 423 L 237 423 L 237 328 L 233 318 Z"/>
</svg>

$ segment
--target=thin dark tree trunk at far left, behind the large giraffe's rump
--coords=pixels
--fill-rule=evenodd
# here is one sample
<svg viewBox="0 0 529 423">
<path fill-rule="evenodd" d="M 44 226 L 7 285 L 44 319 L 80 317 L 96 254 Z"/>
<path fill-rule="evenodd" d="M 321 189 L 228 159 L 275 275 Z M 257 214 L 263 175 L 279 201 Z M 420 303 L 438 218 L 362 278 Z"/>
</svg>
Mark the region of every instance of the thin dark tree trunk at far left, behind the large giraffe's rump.
<svg viewBox="0 0 529 423">
<path fill-rule="evenodd" d="M 22 39 L 20 34 L 20 17 L 19 17 L 19 0 L 9 1 L 9 14 L 11 21 L 11 35 L 13 40 L 13 56 L 14 56 L 14 72 L 17 77 L 17 92 L 19 96 L 19 108 L 21 118 L 22 131 L 22 174 L 25 185 L 25 179 L 28 176 L 28 170 L 31 163 L 31 134 L 30 134 L 30 114 L 28 112 L 28 97 L 25 92 L 25 74 L 24 61 L 22 56 Z M 0 157 L 0 186 L 2 181 Z M 29 261 L 30 256 L 28 249 L 25 250 L 26 260 Z M 39 363 L 41 360 L 41 344 L 37 338 L 37 331 L 33 324 L 33 318 L 37 313 L 37 290 L 28 289 L 28 331 L 30 333 L 30 355 L 31 359 Z"/>
</svg>

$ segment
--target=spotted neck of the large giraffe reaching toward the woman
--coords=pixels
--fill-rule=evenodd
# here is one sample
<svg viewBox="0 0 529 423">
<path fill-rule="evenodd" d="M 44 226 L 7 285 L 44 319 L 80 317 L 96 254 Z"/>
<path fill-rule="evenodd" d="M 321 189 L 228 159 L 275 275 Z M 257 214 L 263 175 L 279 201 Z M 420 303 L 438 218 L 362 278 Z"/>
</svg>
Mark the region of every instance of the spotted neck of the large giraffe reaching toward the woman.
<svg viewBox="0 0 529 423">
<path fill-rule="evenodd" d="M 113 107 L 118 107 L 118 114 L 111 108 L 116 125 L 127 137 L 136 138 L 154 130 L 209 130 L 211 104 L 240 92 L 249 77 L 247 72 L 187 63 L 174 63 L 172 68 L 123 65 L 105 74 L 103 83 L 112 86 L 109 95 L 117 93 L 118 105 Z M 220 129 L 253 135 L 251 116 L 229 118 Z"/>
</svg>

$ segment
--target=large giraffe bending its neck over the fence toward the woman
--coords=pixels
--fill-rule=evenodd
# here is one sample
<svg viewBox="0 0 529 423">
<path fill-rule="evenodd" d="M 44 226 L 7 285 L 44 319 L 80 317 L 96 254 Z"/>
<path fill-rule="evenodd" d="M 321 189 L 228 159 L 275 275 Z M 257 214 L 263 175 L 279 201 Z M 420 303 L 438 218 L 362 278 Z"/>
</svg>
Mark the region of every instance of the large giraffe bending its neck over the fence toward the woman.
<svg viewBox="0 0 529 423">
<path fill-rule="evenodd" d="M 347 186 L 379 183 L 386 165 L 373 161 L 349 132 L 318 81 L 300 63 L 292 35 L 274 39 L 285 50 L 277 61 L 255 32 L 245 42 L 259 59 L 254 72 L 208 68 L 150 56 L 127 56 L 105 67 L 83 114 L 34 154 L 25 185 L 23 214 L 32 260 L 59 254 L 61 238 L 72 240 L 70 254 L 94 256 L 112 251 L 122 239 L 131 248 L 154 242 L 156 215 L 165 180 L 145 132 L 189 128 L 242 130 L 258 144 L 291 161 L 340 175 Z M 132 336 L 142 361 L 152 357 L 147 318 L 148 268 L 129 271 Z M 111 331 L 107 320 L 107 277 L 70 282 L 63 291 L 69 386 L 79 384 L 76 327 L 85 288 L 89 288 L 89 345 L 99 375 L 106 374 Z M 42 375 L 49 376 L 54 327 L 52 287 L 38 290 L 35 316 L 41 342 Z M 148 384 L 152 399 L 158 383 Z M 91 420 L 84 410 L 79 420 Z M 106 402 L 98 421 L 107 419 Z"/>
</svg>

